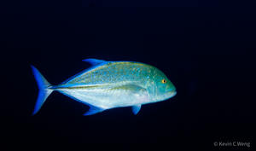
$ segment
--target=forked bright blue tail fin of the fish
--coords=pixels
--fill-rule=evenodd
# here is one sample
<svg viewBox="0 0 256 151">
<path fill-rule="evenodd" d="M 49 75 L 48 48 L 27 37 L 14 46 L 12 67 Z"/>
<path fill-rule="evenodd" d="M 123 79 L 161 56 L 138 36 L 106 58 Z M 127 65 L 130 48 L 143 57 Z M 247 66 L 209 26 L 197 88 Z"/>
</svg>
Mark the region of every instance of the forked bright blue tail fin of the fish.
<svg viewBox="0 0 256 151">
<path fill-rule="evenodd" d="M 43 75 L 41 73 L 39 73 L 38 69 L 36 67 L 32 67 L 32 72 L 34 74 L 34 77 L 37 80 L 38 83 L 38 89 L 39 89 L 39 93 L 38 93 L 38 100 L 36 102 L 34 111 L 32 113 L 38 113 L 39 109 L 43 106 L 45 100 L 47 99 L 47 97 L 51 94 L 51 92 L 53 90 L 49 90 L 49 86 L 51 86 L 51 84 L 49 84 L 49 82 L 43 77 Z"/>
</svg>

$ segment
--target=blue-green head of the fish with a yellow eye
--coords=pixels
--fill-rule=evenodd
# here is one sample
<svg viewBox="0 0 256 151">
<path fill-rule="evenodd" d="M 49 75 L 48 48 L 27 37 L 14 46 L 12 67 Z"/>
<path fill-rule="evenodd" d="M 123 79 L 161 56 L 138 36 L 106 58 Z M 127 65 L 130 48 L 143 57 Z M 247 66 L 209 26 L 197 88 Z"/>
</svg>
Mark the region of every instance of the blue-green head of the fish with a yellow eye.
<svg viewBox="0 0 256 151">
<path fill-rule="evenodd" d="M 160 102 L 176 95 L 176 88 L 171 80 L 159 69 L 148 79 L 148 96 L 153 102 Z"/>
</svg>

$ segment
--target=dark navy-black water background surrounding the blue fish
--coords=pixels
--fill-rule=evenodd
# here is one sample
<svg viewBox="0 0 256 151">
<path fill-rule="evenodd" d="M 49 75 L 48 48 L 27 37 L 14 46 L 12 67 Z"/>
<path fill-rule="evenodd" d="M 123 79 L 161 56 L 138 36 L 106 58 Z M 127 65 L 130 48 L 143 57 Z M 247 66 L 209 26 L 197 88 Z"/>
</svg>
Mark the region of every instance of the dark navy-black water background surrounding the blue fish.
<svg viewBox="0 0 256 151">
<path fill-rule="evenodd" d="M 163 150 L 250 142 L 255 148 L 256 3 L 242 0 L 69 0 L 0 3 L 1 147 Z M 58 92 L 32 115 L 30 65 L 60 84 L 87 58 L 140 61 L 177 96 L 83 116 Z M 239 148 L 239 147 L 236 147 Z M 240 147 L 247 148 L 247 147 Z"/>
</svg>

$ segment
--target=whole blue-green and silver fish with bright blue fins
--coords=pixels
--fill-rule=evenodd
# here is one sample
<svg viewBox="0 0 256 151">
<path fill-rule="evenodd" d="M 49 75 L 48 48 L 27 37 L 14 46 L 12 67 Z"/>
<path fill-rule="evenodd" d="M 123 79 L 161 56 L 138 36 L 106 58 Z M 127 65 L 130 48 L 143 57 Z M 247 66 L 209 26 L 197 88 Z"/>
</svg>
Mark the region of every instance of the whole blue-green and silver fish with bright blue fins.
<svg viewBox="0 0 256 151">
<path fill-rule="evenodd" d="M 101 113 L 115 107 L 131 107 L 137 114 L 143 104 L 165 101 L 177 94 L 175 86 L 158 68 L 137 61 L 85 59 L 92 66 L 52 85 L 32 67 L 38 84 L 38 99 L 32 115 L 38 113 L 54 91 L 88 105 L 84 115 Z"/>
</svg>

